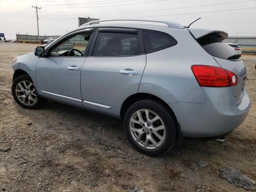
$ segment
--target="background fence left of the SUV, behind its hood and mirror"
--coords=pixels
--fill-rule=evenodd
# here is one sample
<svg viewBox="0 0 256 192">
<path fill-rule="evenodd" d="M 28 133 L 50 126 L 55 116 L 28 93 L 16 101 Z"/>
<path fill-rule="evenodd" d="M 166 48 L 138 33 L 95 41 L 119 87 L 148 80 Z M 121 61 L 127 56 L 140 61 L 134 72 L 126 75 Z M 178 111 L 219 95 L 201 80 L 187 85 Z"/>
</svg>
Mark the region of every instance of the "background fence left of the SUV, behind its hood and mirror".
<svg viewBox="0 0 256 192">
<path fill-rule="evenodd" d="M 56 39 L 59 36 L 53 35 L 53 36 L 38 36 L 38 35 L 22 35 L 22 34 L 16 34 L 17 42 L 20 43 L 40 43 L 40 40 L 45 39 Z"/>
</svg>

